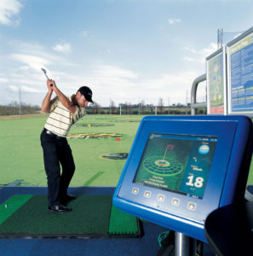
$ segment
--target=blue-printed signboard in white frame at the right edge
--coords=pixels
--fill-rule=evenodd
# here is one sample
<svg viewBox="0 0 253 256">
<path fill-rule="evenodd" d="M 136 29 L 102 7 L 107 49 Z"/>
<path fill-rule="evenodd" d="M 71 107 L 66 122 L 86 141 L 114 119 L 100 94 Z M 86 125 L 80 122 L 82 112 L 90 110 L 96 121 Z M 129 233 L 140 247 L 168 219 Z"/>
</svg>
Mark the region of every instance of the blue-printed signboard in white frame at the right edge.
<svg viewBox="0 0 253 256">
<path fill-rule="evenodd" d="M 228 113 L 253 115 L 253 28 L 227 44 Z"/>
</svg>

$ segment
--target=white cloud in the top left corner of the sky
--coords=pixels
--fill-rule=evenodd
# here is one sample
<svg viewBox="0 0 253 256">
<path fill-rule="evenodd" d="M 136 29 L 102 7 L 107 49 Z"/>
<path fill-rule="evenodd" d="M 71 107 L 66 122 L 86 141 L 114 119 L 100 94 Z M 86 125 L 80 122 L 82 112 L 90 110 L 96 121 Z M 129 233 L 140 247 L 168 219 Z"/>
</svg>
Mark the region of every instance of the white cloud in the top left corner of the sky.
<svg viewBox="0 0 253 256">
<path fill-rule="evenodd" d="M 14 15 L 20 13 L 23 5 L 17 0 L 1 0 L 0 1 L 0 24 L 3 25 L 19 25 L 20 20 L 12 20 Z"/>
</svg>

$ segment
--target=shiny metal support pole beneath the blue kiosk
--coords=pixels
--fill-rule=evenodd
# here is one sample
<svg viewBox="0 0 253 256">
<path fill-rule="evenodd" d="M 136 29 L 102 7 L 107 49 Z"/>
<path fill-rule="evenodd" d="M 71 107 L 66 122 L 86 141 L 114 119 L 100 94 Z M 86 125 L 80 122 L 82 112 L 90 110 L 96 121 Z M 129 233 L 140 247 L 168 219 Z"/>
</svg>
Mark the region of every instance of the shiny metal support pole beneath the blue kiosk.
<svg viewBox="0 0 253 256">
<path fill-rule="evenodd" d="M 195 256 L 196 253 L 197 240 L 175 232 L 175 256 Z"/>
</svg>

